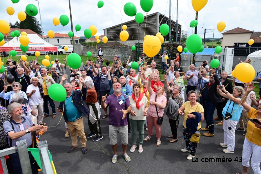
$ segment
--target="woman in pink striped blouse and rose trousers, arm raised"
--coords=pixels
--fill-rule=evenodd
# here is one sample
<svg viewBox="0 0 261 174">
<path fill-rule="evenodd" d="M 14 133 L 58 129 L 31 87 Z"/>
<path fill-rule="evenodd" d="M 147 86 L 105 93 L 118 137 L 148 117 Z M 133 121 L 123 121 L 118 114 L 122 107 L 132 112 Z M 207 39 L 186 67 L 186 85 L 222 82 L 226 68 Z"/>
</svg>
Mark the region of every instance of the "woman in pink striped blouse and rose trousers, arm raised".
<svg viewBox="0 0 261 174">
<path fill-rule="evenodd" d="M 157 144 L 156 146 L 160 146 L 161 141 L 161 124 L 157 124 L 158 117 L 163 117 L 164 108 L 167 104 L 167 98 L 163 96 L 164 87 L 162 85 L 157 87 L 157 92 L 154 92 L 151 88 L 151 80 L 153 79 L 151 75 L 148 76 L 148 91 L 150 93 L 150 105 L 148 108 L 147 113 L 147 120 L 148 120 L 148 136 L 144 138 L 144 141 L 151 140 L 151 135 L 153 134 L 153 126 L 156 129 L 156 137 L 157 137 Z M 156 98 L 157 97 L 157 98 Z M 156 102 L 155 102 L 155 99 Z M 157 108 L 157 109 L 156 109 Z"/>
</svg>

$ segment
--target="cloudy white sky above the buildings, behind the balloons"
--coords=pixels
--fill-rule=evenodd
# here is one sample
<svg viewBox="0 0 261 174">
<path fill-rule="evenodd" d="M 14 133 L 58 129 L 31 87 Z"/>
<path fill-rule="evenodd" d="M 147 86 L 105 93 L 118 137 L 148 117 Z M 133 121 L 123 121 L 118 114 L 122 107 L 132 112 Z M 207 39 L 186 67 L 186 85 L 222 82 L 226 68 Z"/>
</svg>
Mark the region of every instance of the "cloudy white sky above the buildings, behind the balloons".
<svg viewBox="0 0 261 174">
<path fill-rule="evenodd" d="M 127 2 L 134 3 L 137 7 L 137 12 L 142 12 L 144 16 L 146 15 L 146 12 L 140 7 L 139 0 L 104 0 L 102 8 L 97 8 L 97 2 L 98 0 L 71 0 L 74 30 L 75 25 L 81 25 L 81 30 L 75 33 L 76 36 L 84 36 L 83 31 L 89 28 L 90 25 L 95 25 L 98 29 L 97 34 L 102 35 L 104 34 L 104 28 L 135 19 L 135 17 L 128 17 L 123 11 L 123 6 Z M 20 0 L 16 4 L 13 4 L 11 0 L 1 0 L 0 19 L 15 23 L 18 20 L 17 13 L 25 11 L 26 5 L 29 3 L 36 5 L 38 8 L 38 3 L 35 0 Z M 177 0 L 172 0 L 171 3 L 171 18 L 174 18 L 174 21 L 176 21 Z M 52 23 L 54 17 L 59 18 L 62 14 L 66 14 L 70 18 L 68 0 L 39 0 L 39 4 L 44 35 L 47 34 L 48 30 L 58 33 L 65 32 L 66 34 L 71 31 L 70 22 L 64 28 L 61 24 L 55 27 Z M 8 6 L 12 6 L 15 10 L 11 18 L 6 12 Z M 220 21 L 226 23 L 225 30 L 240 27 L 251 31 L 261 31 L 260 6 L 261 1 L 259 0 L 209 0 L 198 14 L 197 34 L 202 33 L 200 36 L 204 37 L 204 29 L 202 27 L 216 30 L 217 23 Z M 182 25 L 182 30 L 188 31 L 189 35 L 191 35 L 192 28 L 189 27 L 189 23 L 195 19 L 195 11 L 191 5 L 191 0 L 180 0 L 178 7 L 178 23 Z M 153 8 L 148 14 L 155 12 L 169 16 L 169 0 L 154 0 Z M 39 12 L 36 18 L 40 22 Z M 212 36 L 213 31 L 207 30 L 206 37 Z M 222 36 L 220 32 L 215 31 L 215 38 Z"/>
</svg>

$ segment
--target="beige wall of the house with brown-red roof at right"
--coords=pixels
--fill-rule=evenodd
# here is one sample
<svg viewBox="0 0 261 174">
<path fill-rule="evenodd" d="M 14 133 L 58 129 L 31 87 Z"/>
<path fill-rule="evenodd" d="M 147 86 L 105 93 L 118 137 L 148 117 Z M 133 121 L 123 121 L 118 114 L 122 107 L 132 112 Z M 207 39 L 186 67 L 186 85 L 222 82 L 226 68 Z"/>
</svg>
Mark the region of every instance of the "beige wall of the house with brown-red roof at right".
<svg viewBox="0 0 261 174">
<path fill-rule="evenodd" d="M 224 34 L 221 46 L 233 46 L 235 42 L 248 42 L 250 40 L 251 33 L 231 33 Z"/>
</svg>

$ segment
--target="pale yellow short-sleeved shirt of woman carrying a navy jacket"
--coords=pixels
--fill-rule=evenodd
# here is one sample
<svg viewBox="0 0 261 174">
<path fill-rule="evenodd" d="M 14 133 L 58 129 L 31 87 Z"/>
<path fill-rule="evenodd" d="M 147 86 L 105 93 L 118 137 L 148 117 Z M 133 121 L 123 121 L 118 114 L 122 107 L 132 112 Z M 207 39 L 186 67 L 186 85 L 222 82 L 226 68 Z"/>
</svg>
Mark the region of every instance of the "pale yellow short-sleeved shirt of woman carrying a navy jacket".
<svg viewBox="0 0 261 174">
<path fill-rule="evenodd" d="M 182 106 L 185 108 L 185 110 L 184 110 L 184 121 L 183 121 L 183 126 L 185 128 L 187 128 L 186 127 L 186 121 L 188 119 L 188 115 L 191 112 L 198 112 L 198 113 L 204 112 L 203 106 L 200 105 L 198 102 L 197 102 L 197 105 L 193 106 L 193 107 L 191 107 L 190 101 L 185 102 Z M 201 128 L 201 122 L 199 122 L 199 125 L 197 126 L 197 130 L 200 129 L 200 128 Z"/>
</svg>

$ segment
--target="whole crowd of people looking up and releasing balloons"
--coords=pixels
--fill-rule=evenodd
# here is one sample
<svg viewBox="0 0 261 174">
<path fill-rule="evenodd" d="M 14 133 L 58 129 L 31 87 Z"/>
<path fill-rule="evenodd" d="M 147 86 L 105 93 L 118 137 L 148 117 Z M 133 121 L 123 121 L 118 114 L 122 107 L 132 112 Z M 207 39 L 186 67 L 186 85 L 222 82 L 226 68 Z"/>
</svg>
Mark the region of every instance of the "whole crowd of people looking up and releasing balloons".
<svg viewBox="0 0 261 174">
<path fill-rule="evenodd" d="M 227 72 L 223 71 L 219 75 L 216 68 L 211 69 L 207 65 L 206 60 L 202 62 L 199 71 L 195 70 L 193 64 L 186 71 L 180 66 L 178 53 L 177 58 L 168 64 L 164 52 L 160 58 L 165 91 L 156 62 L 152 61 L 148 65 L 144 54 L 137 61 L 138 71 L 131 68 L 130 57 L 126 63 L 122 63 L 119 56 L 115 56 L 110 65 L 110 62 L 104 63 L 102 56 L 103 51 L 99 48 L 97 60 L 87 60 L 86 65 L 82 63 L 78 69 L 68 67 L 65 59 L 63 63 L 56 59 L 50 68 L 41 68 L 37 60 L 26 62 L 20 59 L 16 63 L 8 60 L 7 76 L 2 74 L 0 80 L 0 124 L 3 127 L 0 133 L 1 150 L 7 146 L 16 146 L 16 142 L 23 139 L 26 139 L 28 147 L 35 147 L 36 142 L 40 141 L 39 135 L 48 129 L 44 118 L 49 116 L 51 107 L 52 118 L 56 118 L 56 112 L 62 113 L 65 137 L 71 136 L 72 146 L 67 152 L 78 148 L 78 136 L 81 151 L 85 154 L 87 138 L 93 137 L 94 142 L 103 138 L 103 109 L 102 119 L 109 117 L 112 163 L 117 162 L 118 133 L 123 157 L 130 162 L 131 157 L 127 154 L 128 134 L 131 134 L 132 138 L 132 147 L 129 149 L 131 153 L 136 148 L 139 153 L 143 152 L 143 143 L 152 140 L 153 126 L 157 138 L 155 144 L 160 146 L 161 125 L 164 124 L 163 118 L 166 115 L 171 132 L 168 136 L 169 142 L 175 143 L 178 141 L 179 120 L 184 116 L 182 128 L 185 147 L 181 151 L 189 153 L 188 160 L 196 156 L 201 131 L 206 131 L 203 133 L 206 137 L 214 137 L 215 125 L 218 125 L 224 129 L 224 142 L 220 143 L 220 146 L 226 147 L 223 152 L 234 153 L 235 131 L 242 131 L 246 136 L 242 154 L 243 173 L 247 173 L 251 154 L 254 173 L 261 173 L 261 158 L 258 157 L 261 152 L 261 124 L 258 121 L 249 121 L 249 118 L 261 120 L 261 101 L 256 101 L 253 84 L 242 83 L 238 79 L 232 83 L 227 79 Z M 246 62 L 250 63 L 249 60 Z M 187 87 L 184 80 L 187 80 Z M 257 80 L 261 80 L 261 74 Z M 48 95 L 49 87 L 55 83 L 59 83 L 66 90 L 66 99 L 59 103 L 57 109 L 54 100 Z M 253 105 L 258 109 L 254 109 Z M 213 118 L 215 109 L 217 118 Z M 88 135 L 84 133 L 84 116 L 88 119 Z M 206 127 L 201 127 L 204 120 Z M 215 124 L 214 121 L 218 123 Z M 144 130 L 148 131 L 145 136 Z M 11 156 L 12 161 L 7 161 L 8 170 L 21 173 L 18 153 Z M 29 158 L 32 173 L 37 173 L 37 163 L 30 152 Z"/>
</svg>

